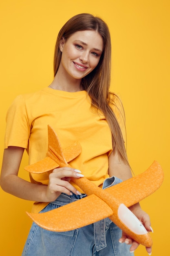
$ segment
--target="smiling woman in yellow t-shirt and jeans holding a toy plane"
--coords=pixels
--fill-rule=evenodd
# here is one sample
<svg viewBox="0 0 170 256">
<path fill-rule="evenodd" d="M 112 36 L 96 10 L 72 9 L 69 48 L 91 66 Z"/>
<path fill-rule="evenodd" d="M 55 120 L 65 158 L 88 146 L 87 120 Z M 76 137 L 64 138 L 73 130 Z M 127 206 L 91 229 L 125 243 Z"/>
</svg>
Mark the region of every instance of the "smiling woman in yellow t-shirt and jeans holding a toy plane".
<svg viewBox="0 0 170 256">
<path fill-rule="evenodd" d="M 121 104 L 115 94 L 109 93 L 110 56 L 106 23 L 88 13 L 74 16 L 58 34 L 51 85 L 18 96 L 7 112 L 1 186 L 19 198 L 35 201 L 34 212 L 49 211 L 85 197 L 70 177 L 86 176 L 100 187 L 108 177 L 117 177 L 113 185 L 131 177 L 119 126 Z M 31 182 L 22 180 L 18 170 L 24 149 L 29 154 L 29 164 L 46 156 L 48 124 L 57 133 L 62 148 L 77 140 L 82 153 L 69 163 L 73 168 L 32 174 Z M 151 231 L 149 216 L 139 204 L 130 210 Z M 33 223 L 22 256 L 128 256 L 137 247 L 138 243 L 124 233 L 121 235 L 108 218 L 60 233 Z M 151 248 L 146 250 L 150 255 Z"/>
</svg>

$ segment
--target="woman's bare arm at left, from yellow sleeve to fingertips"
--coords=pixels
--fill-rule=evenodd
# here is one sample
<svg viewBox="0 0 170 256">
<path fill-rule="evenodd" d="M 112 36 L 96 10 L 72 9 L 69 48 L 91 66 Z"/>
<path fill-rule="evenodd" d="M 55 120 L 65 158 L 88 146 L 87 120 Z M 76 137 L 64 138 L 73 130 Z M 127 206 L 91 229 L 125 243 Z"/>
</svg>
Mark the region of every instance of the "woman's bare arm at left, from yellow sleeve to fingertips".
<svg viewBox="0 0 170 256">
<path fill-rule="evenodd" d="M 55 200 L 62 192 L 77 194 L 76 189 L 65 177 L 76 177 L 73 168 L 57 168 L 49 177 L 49 185 L 33 184 L 18 177 L 24 148 L 10 146 L 4 150 L 0 185 L 4 191 L 19 198 L 37 202 Z"/>
</svg>

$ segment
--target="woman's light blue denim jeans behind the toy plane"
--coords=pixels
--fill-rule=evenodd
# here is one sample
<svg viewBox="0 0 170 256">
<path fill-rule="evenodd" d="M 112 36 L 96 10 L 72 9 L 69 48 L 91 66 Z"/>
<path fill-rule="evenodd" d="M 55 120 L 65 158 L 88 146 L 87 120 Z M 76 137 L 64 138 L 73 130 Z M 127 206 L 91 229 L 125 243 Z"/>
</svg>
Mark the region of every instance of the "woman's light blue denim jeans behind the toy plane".
<svg viewBox="0 0 170 256">
<path fill-rule="evenodd" d="M 116 177 L 108 178 L 104 181 L 103 189 L 119 182 L 121 180 Z M 86 194 L 69 196 L 62 193 L 41 212 L 84 197 Z M 66 232 L 48 231 L 33 223 L 22 256 L 133 256 L 129 251 L 130 245 L 119 243 L 120 237 L 121 229 L 109 218 Z"/>
</svg>

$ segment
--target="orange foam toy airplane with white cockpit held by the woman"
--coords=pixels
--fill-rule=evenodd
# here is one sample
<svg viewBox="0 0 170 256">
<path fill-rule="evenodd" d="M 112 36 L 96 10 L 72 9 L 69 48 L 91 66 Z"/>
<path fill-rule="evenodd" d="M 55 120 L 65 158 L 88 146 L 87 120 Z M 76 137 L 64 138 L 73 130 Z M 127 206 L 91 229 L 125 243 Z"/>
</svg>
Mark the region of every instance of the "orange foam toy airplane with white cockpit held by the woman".
<svg viewBox="0 0 170 256">
<path fill-rule="evenodd" d="M 44 173 L 59 166 L 70 166 L 68 162 L 81 153 L 78 142 L 62 150 L 60 141 L 50 126 L 48 135 L 47 157 L 26 166 L 26 171 Z M 143 200 L 161 186 L 163 171 L 156 161 L 144 173 L 107 189 L 100 189 L 85 177 L 71 180 L 88 196 L 49 212 L 27 213 L 35 223 L 50 231 L 69 231 L 108 217 L 138 243 L 146 247 L 152 245 L 150 234 L 128 207 Z"/>
</svg>

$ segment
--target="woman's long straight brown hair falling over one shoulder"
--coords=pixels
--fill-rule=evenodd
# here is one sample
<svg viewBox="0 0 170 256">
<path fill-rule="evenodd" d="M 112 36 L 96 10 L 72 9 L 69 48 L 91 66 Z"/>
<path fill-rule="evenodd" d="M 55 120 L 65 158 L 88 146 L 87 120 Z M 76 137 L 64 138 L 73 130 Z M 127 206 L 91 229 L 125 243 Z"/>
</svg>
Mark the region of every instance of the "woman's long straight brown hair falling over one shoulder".
<svg viewBox="0 0 170 256">
<path fill-rule="evenodd" d="M 111 108 L 111 105 L 115 105 L 117 96 L 109 92 L 111 70 L 110 32 L 107 24 L 101 18 L 89 13 L 81 13 L 73 16 L 65 23 L 57 36 L 55 45 L 54 76 L 57 73 L 62 57 L 59 47 L 62 38 L 67 40 L 76 31 L 89 29 L 97 31 L 102 36 L 104 51 L 98 65 L 82 79 L 81 85 L 91 97 L 92 106 L 103 112 L 112 133 L 113 148 L 117 149 L 121 159 L 128 163 L 121 129 Z"/>
</svg>

